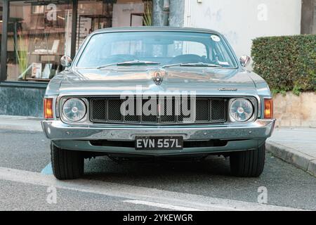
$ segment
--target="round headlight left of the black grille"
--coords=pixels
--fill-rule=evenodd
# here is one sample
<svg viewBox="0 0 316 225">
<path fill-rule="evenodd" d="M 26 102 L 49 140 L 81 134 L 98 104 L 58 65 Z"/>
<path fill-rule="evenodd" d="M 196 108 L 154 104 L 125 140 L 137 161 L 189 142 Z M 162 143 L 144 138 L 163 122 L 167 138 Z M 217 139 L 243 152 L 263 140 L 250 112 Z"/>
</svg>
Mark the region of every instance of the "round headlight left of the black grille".
<svg viewBox="0 0 316 225">
<path fill-rule="evenodd" d="M 86 104 L 79 98 L 70 98 L 62 105 L 62 114 L 71 122 L 78 122 L 86 115 Z"/>
</svg>

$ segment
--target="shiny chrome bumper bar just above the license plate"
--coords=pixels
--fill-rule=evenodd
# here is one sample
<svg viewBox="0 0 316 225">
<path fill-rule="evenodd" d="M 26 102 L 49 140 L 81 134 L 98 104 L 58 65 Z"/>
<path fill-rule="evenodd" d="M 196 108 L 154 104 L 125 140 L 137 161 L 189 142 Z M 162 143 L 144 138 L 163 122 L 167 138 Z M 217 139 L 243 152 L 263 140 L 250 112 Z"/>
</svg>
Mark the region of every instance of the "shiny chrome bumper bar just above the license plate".
<svg viewBox="0 0 316 225">
<path fill-rule="evenodd" d="M 180 135 L 184 140 L 236 140 L 267 139 L 271 136 L 275 120 L 256 120 L 249 124 L 230 125 L 179 125 L 146 126 L 128 124 L 88 124 L 71 125 L 60 120 L 44 120 L 41 127 L 48 139 L 62 140 L 124 140 L 131 141 L 135 136 Z"/>
</svg>

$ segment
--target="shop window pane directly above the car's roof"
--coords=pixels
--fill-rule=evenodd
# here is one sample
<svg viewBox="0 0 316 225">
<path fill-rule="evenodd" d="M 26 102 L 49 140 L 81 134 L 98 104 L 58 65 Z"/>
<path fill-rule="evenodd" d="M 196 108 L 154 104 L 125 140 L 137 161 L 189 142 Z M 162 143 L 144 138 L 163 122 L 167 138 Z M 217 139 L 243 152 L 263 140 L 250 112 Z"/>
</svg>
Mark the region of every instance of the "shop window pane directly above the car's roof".
<svg viewBox="0 0 316 225">
<path fill-rule="evenodd" d="M 94 30 L 152 25 L 152 1 L 107 0 L 78 3 L 76 49 Z"/>
</svg>

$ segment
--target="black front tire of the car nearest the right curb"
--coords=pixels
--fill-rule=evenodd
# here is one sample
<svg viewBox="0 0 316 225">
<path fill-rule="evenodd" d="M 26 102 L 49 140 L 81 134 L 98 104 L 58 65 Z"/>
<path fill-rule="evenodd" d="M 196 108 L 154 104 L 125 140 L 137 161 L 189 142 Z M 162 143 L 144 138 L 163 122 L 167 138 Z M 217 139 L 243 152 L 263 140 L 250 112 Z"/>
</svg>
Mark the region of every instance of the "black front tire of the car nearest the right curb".
<svg viewBox="0 0 316 225">
<path fill-rule="evenodd" d="M 265 165 L 265 143 L 256 150 L 230 154 L 230 172 L 234 176 L 257 177 Z"/>
</svg>

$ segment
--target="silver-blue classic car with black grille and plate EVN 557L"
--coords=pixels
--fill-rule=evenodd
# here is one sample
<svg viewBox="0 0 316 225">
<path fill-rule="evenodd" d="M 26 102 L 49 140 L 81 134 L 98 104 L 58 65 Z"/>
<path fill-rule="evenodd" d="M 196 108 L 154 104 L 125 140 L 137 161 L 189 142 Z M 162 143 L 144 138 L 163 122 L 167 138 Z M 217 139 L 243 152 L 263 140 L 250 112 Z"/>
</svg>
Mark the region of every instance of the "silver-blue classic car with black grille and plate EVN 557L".
<svg viewBox="0 0 316 225">
<path fill-rule="evenodd" d="M 44 133 L 53 174 L 75 179 L 84 159 L 230 159 L 259 176 L 272 134 L 266 82 L 213 30 L 129 27 L 90 34 L 48 84 Z"/>
</svg>

